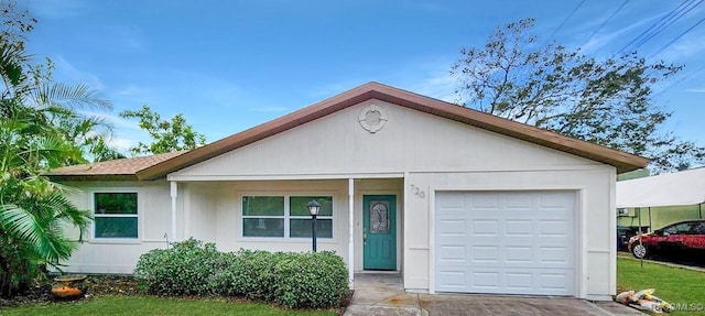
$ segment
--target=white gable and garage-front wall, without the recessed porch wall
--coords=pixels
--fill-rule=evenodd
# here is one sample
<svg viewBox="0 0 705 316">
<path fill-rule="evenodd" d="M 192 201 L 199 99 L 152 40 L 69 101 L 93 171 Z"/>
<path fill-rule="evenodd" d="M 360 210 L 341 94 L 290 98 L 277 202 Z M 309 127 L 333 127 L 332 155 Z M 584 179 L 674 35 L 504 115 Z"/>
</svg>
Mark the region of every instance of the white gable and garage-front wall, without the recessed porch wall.
<svg viewBox="0 0 705 316">
<path fill-rule="evenodd" d="M 358 122 L 369 105 L 388 121 L 377 133 Z M 433 292 L 436 190 L 576 192 L 576 288 L 609 299 L 616 287 L 612 166 L 379 100 L 321 118 L 170 175 L 172 179 L 403 177 L 404 287 Z M 413 186 L 413 187 L 412 187 Z M 341 188 L 343 189 L 343 188 Z M 357 189 L 357 187 L 356 187 Z M 416 194 L 416 189 L 424 194 Z M 341 192 L 343 194 L 343 192 Z M 355 269 L 361 269 L 361 194 L 356 190 Z M 402 226 L 400 226 L 402 227 Z M 589 231 L 589 235 L 586 233 Z M 588 237 L 589 236 L 589 237 Z M 344 254 L 345 252 L 341 252 Z"/>
</svg>

